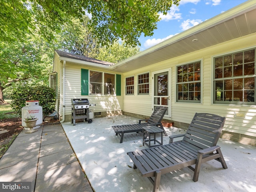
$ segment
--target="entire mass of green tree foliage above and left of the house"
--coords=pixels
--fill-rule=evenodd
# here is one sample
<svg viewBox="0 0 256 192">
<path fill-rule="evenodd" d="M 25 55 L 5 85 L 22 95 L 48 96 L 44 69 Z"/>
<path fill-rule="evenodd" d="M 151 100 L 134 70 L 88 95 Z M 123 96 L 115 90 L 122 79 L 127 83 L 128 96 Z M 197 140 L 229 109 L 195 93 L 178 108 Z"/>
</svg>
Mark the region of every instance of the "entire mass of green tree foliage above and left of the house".
<svg viewBox="0 0 256 192">
<path fill-rule="evenodd" d="M 179 1 L 0 0 L 0 102 L 15 84 L 47 84 L 54 49 L 113 63 L 136 54 Z"/>
</svg>

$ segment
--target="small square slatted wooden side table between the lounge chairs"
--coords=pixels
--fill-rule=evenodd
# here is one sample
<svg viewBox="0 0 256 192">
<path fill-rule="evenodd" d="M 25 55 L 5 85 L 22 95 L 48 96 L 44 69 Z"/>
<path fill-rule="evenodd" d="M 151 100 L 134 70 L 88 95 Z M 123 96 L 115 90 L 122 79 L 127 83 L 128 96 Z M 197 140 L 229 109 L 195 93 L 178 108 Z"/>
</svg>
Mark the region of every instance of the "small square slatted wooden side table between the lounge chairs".
<svg viewBox="0 0 256 192">
<path fill-rule="evenodd" d="M 151 126 L 144 126 L 142 133 L 143 133 L 143 146 L 146 144 L 148 147 L 160 146 L 163 145 L 163 132 L 162 128 L 151 125 Z M 161 133 L 161 141 L 156 140 L 156 133 Z M 154 138 L 151 138 L 151 134 L 154 134 Z M 148 136 L 148 139 L 146 139 Z M 151 141 L 154 141 L 154 145 L 151 145 Z M 158 144 L 156 144 L 158 143 Z"/>
</svg>

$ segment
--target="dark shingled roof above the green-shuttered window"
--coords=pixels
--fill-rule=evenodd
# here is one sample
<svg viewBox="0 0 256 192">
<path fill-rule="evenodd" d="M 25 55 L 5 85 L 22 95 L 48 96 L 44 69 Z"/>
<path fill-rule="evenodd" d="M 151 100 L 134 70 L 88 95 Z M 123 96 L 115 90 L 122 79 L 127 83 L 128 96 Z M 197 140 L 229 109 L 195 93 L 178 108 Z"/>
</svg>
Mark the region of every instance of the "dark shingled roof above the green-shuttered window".
<svg viewBox="0 0 256 192">
<path fill-rule="evenodd" d="M 106 62 L 106 61 L 102 61 L 102 60 L 98 60 L 98 59 L 94 59 L 94 58 L 90 58 L 90 57 L 85 57 L 85 56 L 81 56 L 81 55 L 77 55 L 77 54 L 67 53 L 67 52 L 60 51 L 60 50 L 55 50 L 55 51 L 58 53 L 58 55 L 60 57 L 66 57 L 66 58 L 70 58 L 70 59 L 87 61 L 87 62 L 102 64 L 102 65 L 107 65 L 107 66 L 114 65 L 114 63 L 110 63 L 110 62 Z"/>
</svg>

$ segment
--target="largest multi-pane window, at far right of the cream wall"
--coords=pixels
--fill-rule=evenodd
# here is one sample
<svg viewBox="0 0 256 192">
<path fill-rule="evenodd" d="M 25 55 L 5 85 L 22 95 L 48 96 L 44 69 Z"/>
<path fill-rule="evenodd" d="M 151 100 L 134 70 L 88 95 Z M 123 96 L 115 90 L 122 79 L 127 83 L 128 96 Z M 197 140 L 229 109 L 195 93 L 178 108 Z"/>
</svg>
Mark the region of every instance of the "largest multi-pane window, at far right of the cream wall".
<svg viewBox="0 0 256 192">
<path fill-rule="evenodd" d="M 214 58 L 214 103 L 255 105 L 255 48 Z"/>
</svg>

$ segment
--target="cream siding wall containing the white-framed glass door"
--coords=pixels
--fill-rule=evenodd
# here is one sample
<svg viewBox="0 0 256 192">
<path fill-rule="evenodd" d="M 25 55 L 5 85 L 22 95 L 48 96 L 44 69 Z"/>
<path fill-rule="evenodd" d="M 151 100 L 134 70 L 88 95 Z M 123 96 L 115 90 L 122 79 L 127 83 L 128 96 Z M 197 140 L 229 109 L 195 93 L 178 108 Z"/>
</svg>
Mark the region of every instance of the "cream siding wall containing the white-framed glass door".
<svg viewBox="0 0 256 192">
<path fill-rule="evenodd" d="M 226 54 L 230 51 L 236 52 L 247 48 L 256 47 L 256 36 L 251 34 L 236 40 L 218 44 L 203 50 L 182 55 L 177 58 L 165 60 L 139 70 L 130 71 L 124 74 L 125 78 L 134 76 L 134 95 L 125 95 L 124 90 L 124 113 L 142 114 L 150 116 L 152 113 L 152 73 L 164 69 L 171 69 L 171 117 L 165 118 L 176 122 L 175 126 L 188 126 L 196 112 L 208 112 L 226 117 L 223 128 L 223 137 L 240 140 L 245 143 L 256 143 L 256 106 L 213 104 L 213 57 L 219 54 Z M 201 68 L 201 103 L 176 102 L 176 66 L 190 63 L 195 60 L 202 60 Z M 150 94 L 137 95 L 138 74 L 150 72 Z M 235 117 L 235 112 L 245 114 L 244 118 Z M 254 138 L 252 141 L 251 138 Z"/>
</svg>

